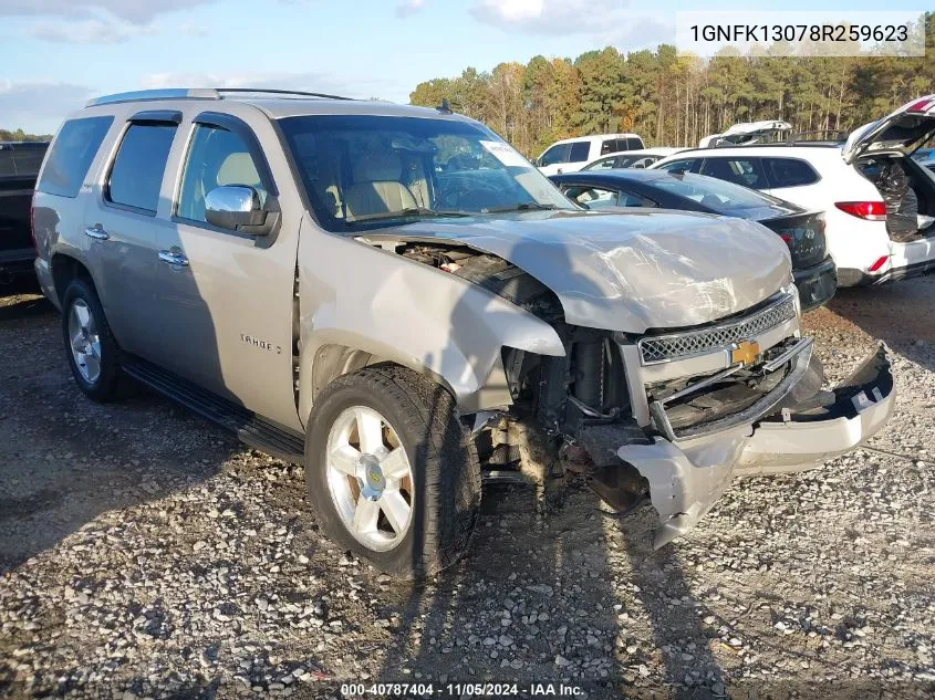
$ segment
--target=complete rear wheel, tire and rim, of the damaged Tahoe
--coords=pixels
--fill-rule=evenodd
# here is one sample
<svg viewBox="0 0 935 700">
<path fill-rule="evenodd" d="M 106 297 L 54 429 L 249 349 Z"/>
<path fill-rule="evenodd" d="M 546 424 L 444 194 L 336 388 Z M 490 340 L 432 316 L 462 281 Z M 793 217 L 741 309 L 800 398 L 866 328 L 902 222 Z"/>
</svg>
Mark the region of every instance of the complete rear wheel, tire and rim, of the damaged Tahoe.
<svg viewBox="0 0 935 700">
<path fill-rule="evenodd" d="M 62 295 L 62 337 L 72 375 L 84 395 L 100 403 L 120 398 L 120 347 L 97 292 L 82 278 L 72 280 Z"/>
</svg>

